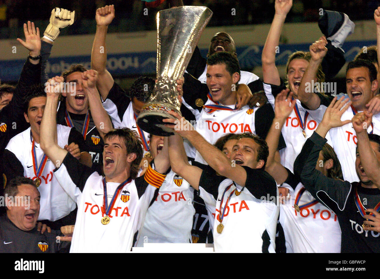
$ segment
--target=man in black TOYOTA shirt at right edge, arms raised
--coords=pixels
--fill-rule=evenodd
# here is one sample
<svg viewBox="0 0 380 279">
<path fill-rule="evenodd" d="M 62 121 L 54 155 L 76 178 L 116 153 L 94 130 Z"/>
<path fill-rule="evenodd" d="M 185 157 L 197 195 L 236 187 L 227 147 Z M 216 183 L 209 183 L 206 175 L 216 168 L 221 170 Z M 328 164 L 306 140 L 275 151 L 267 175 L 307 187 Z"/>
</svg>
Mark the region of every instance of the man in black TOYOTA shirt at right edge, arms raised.
<svg viewBox="0 0 380 279">
<path fill-rule="evenodd" d="M 352 124 L 350 119 L 341 120 L 342 115 L 347 109 L 350 109 L 351 102 L 347 102 L 348 99 L 343 101 L 344 97 L 338 101 L 336 99 L 335 97 L 327 107 L 325 115 L 313 135 L 306 140 L 301 153 L 294 162 L 294 172 L 301 177 L 301 182 L 313 197 L 319 199 L 328 208 L 334 208 L 342 232 L 342 253 L 380 252 L 380 238 L 378 238 L 380 233 L 368 230 L 369 226 L 374 223 L 371 221 L 372 218 L 368 220 L 367 216 L 367 213 L 374 216 L 378 216 L 378 214 L 375 215 L 371 210 L 366 210 L 366 208 L 379 210 L 380 189 L 379 185 L 367 177 L 366 172 L 369 169 L 366 165 L 364 165 L 366 168 L 362 165 L 364 158 L 361 158 L 360 151 L 356 150 L 355 161 L 355 170 L 360 182 L 350 183 L 328 178 L 315 169 L 319 152 L 326 143 L 325 136 L 329 129 L 346 124 L 352 125 L 358 132 L 362 132 L 366 128 L 371 129 L 370 116 L 372 115 L 370 113 L 367 114 L 367 119 L 364 121 L 355 115 Z M 342 117 L 342 119 L 345 118 Z M 370 134 L 368 137 L 370 147 L 378 162 L 380 160 L 380 137 L 376 134 Z"/>
</svg>

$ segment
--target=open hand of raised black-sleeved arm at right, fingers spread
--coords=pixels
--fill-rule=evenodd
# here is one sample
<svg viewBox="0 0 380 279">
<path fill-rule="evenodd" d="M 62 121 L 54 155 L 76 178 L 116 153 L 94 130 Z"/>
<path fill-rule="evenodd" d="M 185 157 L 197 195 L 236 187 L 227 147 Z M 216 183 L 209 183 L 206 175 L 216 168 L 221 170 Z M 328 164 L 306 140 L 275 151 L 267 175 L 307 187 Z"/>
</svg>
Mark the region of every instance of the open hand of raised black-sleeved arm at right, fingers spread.
<svg viewBox="0 0 380 279">
<path fill-rule="evenodd" d="M 329 129 L 331 129 L 350 123 L 351 120 L 340 120 L 342 114 L 348 109 L 348 107 L 350 107 L 351 101 L 348 102 L 349 100 L 350 99 L 348 98 L 344 99 L 344 96 L 342 96 L 339 100 L 334 97 L 323 115 L 321 124 L 328 126 Z"/>
</svg>

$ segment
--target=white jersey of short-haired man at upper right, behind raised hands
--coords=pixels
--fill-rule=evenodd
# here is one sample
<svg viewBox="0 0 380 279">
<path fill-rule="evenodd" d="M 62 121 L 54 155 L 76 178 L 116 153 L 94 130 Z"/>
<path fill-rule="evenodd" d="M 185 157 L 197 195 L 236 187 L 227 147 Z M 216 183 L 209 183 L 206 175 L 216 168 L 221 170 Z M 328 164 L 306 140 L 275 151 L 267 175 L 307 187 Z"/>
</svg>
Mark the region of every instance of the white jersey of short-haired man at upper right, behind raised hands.
<svg viewBox="0 0 380 279">
<path fill-rule="evenodd" d="M 321 102 L 319 109 L 309 110 L 310 115 L 313 115 L 313 118 L 322 120 L 323 114 L 326 111 L 326 108 L 329 104 Z M 359 111 L 361 112 L 361 111 Z M 354 117 L 354 113 L 351 107 L 349 107 L 340 117 L 340 120 L 351 120 Z M 367 129 L 368 133 L 374 133 L 380 135 L 380 114 L 372 116 L 373 130 L 370 125 Z M 342 166 L 343 178 L 344 180 L 352 183 L 359 181 L 359 177 L 356 174 L 356 132 L 352 126 L 352 123 L 348 123 L 341 127 L 332 128 L 329 131 L 332 147 L 338 156 L 340 165 Z"/>
</svg>

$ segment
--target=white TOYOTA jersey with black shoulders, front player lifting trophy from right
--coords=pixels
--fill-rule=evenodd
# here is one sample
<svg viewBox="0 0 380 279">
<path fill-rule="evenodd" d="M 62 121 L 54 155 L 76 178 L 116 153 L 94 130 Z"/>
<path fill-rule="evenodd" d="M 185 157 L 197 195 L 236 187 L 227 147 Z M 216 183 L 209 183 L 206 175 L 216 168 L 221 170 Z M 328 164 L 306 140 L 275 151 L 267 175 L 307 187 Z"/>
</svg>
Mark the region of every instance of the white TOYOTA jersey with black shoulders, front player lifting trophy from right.
<svg viewBox="0 0 380 279">
<path fill-rule="evenodd" d="M 248 167 L 244 168 L 249 169 Z M 234 184 L 228 178 L 223 179 L 223 177 L 217 176 L 210 178 L 212 175 L 207 174 L 209 176 L 208 181 L 220 181 L 223 179 L 218 186 L 217 199 L 215 200 L 216 193 L 211 194 L 211 191 L 215 191 L 215 189 L 210 189 L 215 185 L 207 186 L 205 183 L 207 180 L 202 181 L 201 177 L 199 183 L 200 197 L 204 199 L 207 210 L 214 211 L 211 212 L 214 219 L 210 220 L 214 220 L 215 252 L 275 252 L 277 218 L 280 210 L 279 206 L 276 205 L 277 186 L 268 173 L 264 171 L 260 173 L 257 172 L 258 170 L 251 169 L 252 173 L 249 174 L 249 171 L 247 171 L 247 183 L 253 186 L 251 191 L 255 189 L 257 190 L 255 195 L 260 195 L 258 194 L 259 191 L 266 191 L 264 188 L 270 188 L 271 194 L 263 193 L 263 196 L 255 197 L 249 191 L 247 183 L 246 187 L 243 188 L 238 184 Z M 256 178 L 256 181 L 252 181 L 254 178 Z M 261 182 L 265 183 L 265 185 L 260 184 Z M 262 187 L 261 189 L 257 189 L 260 187 L 258 184 Z M 225 191 L 226 189 L 228 190 Z M 236 190 L 240 194 L 236 195 Z M 231 197 L 228 199 L 230 195 Z M 221 202 L 223 202 L 222 206 L 220 205 Z M 213 205 L 214 208 L 212 208 Z M 219 215 L 223 215 L 223 230 L 221 233 L 218 233 Z M 210 223 L 212 224 L 212 221 Z"/>
</svg>

